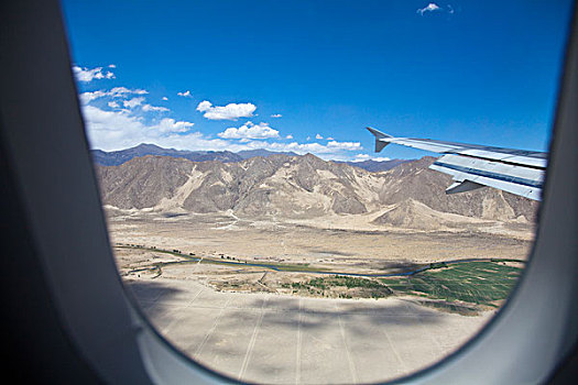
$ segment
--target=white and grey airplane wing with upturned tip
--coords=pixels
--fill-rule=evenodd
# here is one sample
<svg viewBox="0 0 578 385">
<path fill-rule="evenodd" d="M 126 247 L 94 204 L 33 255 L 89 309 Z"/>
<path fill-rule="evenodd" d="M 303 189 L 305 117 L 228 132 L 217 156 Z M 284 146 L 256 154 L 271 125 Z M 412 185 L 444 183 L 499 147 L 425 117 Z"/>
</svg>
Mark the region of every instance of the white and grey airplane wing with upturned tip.
<svg viewBox="0 0 578 385">
<path fill-rule="evenodd" d="M 542 199 L 547 153 L 430 139 L 394 138 L 369 127 L 367 129 L 375 136 L 375 152 L 395 143 L 444 154 L 429 168 L 452 176 L 454 184 L 446 189 L 446 194 L 490 186 L 530 199 Z"/>
</svg>

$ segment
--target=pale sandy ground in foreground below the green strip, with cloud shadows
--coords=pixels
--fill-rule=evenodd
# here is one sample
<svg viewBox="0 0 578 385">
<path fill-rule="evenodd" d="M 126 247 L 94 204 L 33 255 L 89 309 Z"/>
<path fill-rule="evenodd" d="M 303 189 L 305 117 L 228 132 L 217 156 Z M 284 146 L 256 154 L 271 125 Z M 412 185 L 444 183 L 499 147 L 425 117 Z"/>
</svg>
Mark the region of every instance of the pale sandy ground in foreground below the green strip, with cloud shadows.
<svg viewBox="0 0 578 385">
<path fill-rule="evenodd" d="M 265 384 L 400 377 L 454 352 L 493 316 L 440 312 L 412 298 L 217 293 L 194 279 L 141 278 L 127 286 L 185 354 L 232 378 Z"/>
</svg>

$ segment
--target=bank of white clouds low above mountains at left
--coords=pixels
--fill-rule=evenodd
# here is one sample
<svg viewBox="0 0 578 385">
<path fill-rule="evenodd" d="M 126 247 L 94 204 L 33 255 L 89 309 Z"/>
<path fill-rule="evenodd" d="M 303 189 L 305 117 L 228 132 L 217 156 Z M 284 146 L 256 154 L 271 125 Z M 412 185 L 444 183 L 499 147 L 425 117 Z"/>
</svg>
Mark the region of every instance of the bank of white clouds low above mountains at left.
<svg viewBox="0 0 578 385">
<path fill-rule="evenodd" d="M 100 68 L 100 67 L 99 67 Z M 109 66 L 109 68 L 114 68 Z M 107 73 L 98 74 L 94 72 L 94 78 L 106 78 Z M 80 68 L 80 70 L 87 70 Z M 77 70 L 78 73 L 78 70 Z M 86 76 L 86 74 L 81 75 Z M 87 80 L 89 81 L 89 80 Z M 229 151 L 265 148 L 270 151 L 293 151 L 297 154 L 314 153 L 326 158 L 351 158 L 351 152 L 359 152 L 361 148 L 358 142 L 337 142 L 331 140 L 326 144 L 321 143 L 297 143 L 293 141 L 293 135 L 280 136 L 280 132 L 271 128 L 268 123 L 254 124 L 247 122 L 238 128 L 228 128 L 218 134 L 218 139 L 206 138 L 198 131 L 193 131 L 194 123 L 188 121 L 177 121 L 173 118 L 160 120 L 151 119 L 154 116 L 145 112 L 168 112 L 166 107 L 152 106 L 146 102 L 144 89 L 129 89 L 127 87 L 114 87 L 110 90 L 96 90 L 83 92 L 79 96 L 83 105 L 87 134 L 92 148 L 113 151 L 127 148 L 140 143 L 154 143 L 164 147 L 175 147 L 182 150 L 205 150 L 205 151 Z M 183 97 L 190 97 L 190 91 L 179 92 Z M 106 109 L 92 106 L 90 102 L 96 99 L 103 99 Z M 168 98 L 163 97 L 163 100 Z M 95 103 L 101 106 L 100 103 Z M 257 106 L 252 103 L 229 103 L 227 106 L 212 106 L 208 100 L 204 100 L 197 106 L 197 111 L 211 120 L 236 120 L 239 118 L 253 117 Z M 281 117 L 274 114 L 272 117 Z M 318 139 L 321 135 L 317 135 Z M 280 140 L 277 142 L 275 140 Z M 310 140 L 308 138 L 307 140 Z M 287 143 L 291 141 L 290 143 Z"/>
</svg>

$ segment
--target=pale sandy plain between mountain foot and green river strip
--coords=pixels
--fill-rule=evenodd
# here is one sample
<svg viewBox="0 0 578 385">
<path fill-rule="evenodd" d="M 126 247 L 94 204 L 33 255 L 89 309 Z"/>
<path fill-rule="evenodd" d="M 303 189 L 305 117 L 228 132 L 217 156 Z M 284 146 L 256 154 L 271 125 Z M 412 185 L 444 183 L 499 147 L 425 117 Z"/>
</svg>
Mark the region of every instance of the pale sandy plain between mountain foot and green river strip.
<svg viewBox="0 0 578 385">
<path fill-rule="evenodd" d="M 116 217 L 109 221 L 113 242 L 135 243 L 199 255 L 227 254 L 288 263 L 439 262 L 466 257 L 525 258 L 532 228 L 508 234 L 347 230 L 323 221 L 295 223 L 249 221 L 235 216 L 186 215 Z M 347 217 L 343 218 L 347 224 Z M 315 224 L 315 226 L 314 226 Z M 502 229 L 503 230 L 503 229 Z M 504 230 L 505 231 L 505 230 Z"/>
</svg>

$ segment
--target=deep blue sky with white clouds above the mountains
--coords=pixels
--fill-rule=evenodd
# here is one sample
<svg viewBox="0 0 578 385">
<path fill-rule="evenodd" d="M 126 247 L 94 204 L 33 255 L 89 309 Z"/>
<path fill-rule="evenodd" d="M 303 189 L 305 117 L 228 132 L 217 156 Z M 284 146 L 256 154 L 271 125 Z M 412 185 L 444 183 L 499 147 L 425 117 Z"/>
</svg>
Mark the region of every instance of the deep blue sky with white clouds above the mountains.
<svg viewBox="0 0 578 385">
<path fill-rule="evenodd" d="M 570 1 L 63 1 L 91 146 L 546 151 Z M 110 75 L 109 75 L 110 74 Z"/>
</svg>

